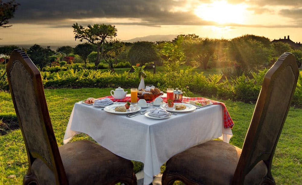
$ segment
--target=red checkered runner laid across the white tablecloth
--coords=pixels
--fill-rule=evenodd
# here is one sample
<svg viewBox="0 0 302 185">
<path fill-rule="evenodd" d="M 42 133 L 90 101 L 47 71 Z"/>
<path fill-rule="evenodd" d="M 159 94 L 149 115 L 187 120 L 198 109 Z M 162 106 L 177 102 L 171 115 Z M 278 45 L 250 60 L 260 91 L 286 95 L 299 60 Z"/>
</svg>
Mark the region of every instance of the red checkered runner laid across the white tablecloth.
<svg viewBox="0 0 302 185">
<path fill-rule="evenodd" d="M 103 99 L 103 98 L 110 98 L 112 101 L 119 101 L 119 102 L 127 102 L 127 101 L 131 101 L 131 97 L 125 97 L 124 99 L 120 99 L 120 100 L 117 100 L 117 99 L 114 99 L 112 96 L 105 96 L 105 97 L 101 97 L 101 98 L 98 98 L 98 99 Z M 167 97 L 161 97 L 164 102 L 167 102 Z M 139 98 L 137 98 L 137 100 L 139 100 Z M 185 100 L 182 100 L 182 102 L 189 102 L 190 100 L 192 101 L 195 101 L 195 100 L 208 100 L 210 101 L 211 103 L 213 103 L 214 105 L 221 105 L 223 107 L 223 125 L 224 125 L 224 128 L 233 128 L 234 126 L 234 122 L 230 116 L 230 113 L 229 111 L 226 109 L 226 105 L 222 102 L 219 102 L 219 101 L 214 101 L 214 100 L 210 100 L 210 99 L 207 99 L 207 98 L 203 98 L 203 97 L 188 97 L 187 99 Z M 148 103 L 150 103 L 151 101 L 147 101 Z M 177 103 L 177 101 L 176 101 Z M 180 102 L 178 102 L 180 103 Z"/>
</svg>

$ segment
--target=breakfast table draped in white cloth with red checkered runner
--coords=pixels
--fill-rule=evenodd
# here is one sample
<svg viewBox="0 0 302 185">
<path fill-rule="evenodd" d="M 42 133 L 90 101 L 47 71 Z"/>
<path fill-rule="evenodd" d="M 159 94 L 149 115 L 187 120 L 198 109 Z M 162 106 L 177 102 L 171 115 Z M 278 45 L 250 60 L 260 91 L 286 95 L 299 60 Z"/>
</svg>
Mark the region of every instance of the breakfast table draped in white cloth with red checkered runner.
<svg viewBox="0 0 302 185">
<path fill-rule="evenodd" d="M 108 97 L 114 100 L 113 97 Z M 99 99 L 102 98 L 104 97 Z M 124 100 L 117 100 L 114 104 L 124 105 L 129 98 L 130 95 L 127 94 Z M 166 94 L 162 98 L 165 101 Z M 195 107 L 186 104 L 189 100 L 187 98 L 183 103 L 188 107 L 192 106 L 192 110 L 175 110 L 172 112 L 176 115 L 156 119 L 148 114 L 127 117 L 126 113 L 115 113 L 84 102 L 76 102 L 63 143 L 66 144 L 78 133 L 85 133 L 114 154 L 142 162 L 143 184 L 148 185 L 160 173 L 161 166 L 173 155 L 216 138 L 229 142 L 233 135 L 233 121 L 223 103 L 211 100 L 211 104 L 207 106 Z M 148 103 L 146 108 L 139 107 L 139 110 L 147 110 L 148 113 L 154 108 L 159 106 Z"/>
</svg>

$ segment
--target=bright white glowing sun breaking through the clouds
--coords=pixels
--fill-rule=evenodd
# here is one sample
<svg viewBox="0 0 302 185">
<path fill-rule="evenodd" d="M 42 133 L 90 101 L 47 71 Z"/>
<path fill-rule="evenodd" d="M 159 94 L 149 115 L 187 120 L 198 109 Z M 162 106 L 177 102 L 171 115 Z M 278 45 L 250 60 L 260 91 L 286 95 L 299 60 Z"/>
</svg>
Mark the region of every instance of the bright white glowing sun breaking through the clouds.
<svg viewBox="0 0 302 185">
<path fill-rule="evenodd" d="M 229 4 L 227 1 L 214 1 L 211 4 L 201 4 L 194 14 L 206 21 L 214 21 L 218 24 L 244 22 L 246 6 L 243 4 Z"/>
</svg>

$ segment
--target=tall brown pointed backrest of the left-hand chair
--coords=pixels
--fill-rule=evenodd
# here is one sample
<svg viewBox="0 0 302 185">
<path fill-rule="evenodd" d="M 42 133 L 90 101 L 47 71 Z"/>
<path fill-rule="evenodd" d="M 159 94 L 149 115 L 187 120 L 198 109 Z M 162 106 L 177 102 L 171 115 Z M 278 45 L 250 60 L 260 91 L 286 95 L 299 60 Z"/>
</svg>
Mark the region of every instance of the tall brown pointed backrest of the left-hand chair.
<svg viewBox="0 0 302 185">
<path fill-rule="evenodd" d="M 28 173 L 31 173 L 34 160 L 39 158 L 53 171 L 57 184 L 67 183 L 39 70 L 24 51 L 15 49 L 6 72 L 27 150 Z"/>
</svg>

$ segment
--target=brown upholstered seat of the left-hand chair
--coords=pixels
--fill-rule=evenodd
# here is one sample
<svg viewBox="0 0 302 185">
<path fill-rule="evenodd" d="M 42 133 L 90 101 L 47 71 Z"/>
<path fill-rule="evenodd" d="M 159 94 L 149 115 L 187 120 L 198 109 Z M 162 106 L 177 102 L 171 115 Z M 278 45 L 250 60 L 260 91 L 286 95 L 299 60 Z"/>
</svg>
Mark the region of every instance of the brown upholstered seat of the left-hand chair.
<svg viewBox="0 0 302 185">
<path fill-rule="evenodd" d="M 133 176 L 133 163 L 106 148 L 81 140 L 59 147 L 69 184 L 115 184 L 117 177 Z M 31 171 L 40 184 L 55 184 L 53 172 L 43 161 L 36 159 Z"/>
</svg>

